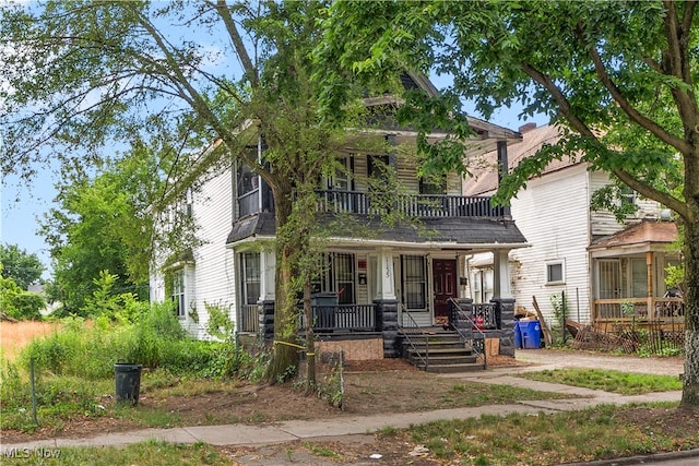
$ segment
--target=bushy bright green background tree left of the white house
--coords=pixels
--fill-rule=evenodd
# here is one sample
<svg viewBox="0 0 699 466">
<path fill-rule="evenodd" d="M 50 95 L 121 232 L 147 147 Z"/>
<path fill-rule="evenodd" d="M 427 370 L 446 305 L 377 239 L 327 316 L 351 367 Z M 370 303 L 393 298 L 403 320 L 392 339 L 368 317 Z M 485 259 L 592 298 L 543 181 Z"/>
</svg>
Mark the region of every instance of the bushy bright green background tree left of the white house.
<svg viewBox="0 0 699 466">
<path fill-rule="evenodd" d="M 56 207 L 39 231 L 50 246 L 52 298 L 82 313 L 103 271 L 117 276 L 115 291 L 147 299 L 154 218 L 149 207 L 164 182 L 155 151 L 137 143 L 127 157 L 97 164 L 96 174 L 64 170 Z"/>
</svg>

